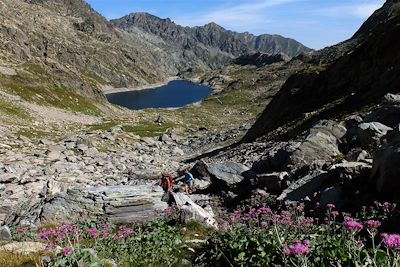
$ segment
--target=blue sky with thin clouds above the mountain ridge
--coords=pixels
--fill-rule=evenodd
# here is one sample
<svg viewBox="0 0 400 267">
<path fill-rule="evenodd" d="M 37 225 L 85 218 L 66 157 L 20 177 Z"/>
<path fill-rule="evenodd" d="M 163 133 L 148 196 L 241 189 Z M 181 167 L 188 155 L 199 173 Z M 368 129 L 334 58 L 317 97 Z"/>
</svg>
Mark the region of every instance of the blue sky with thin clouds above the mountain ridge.
<svg viewBox="0 0 400 267">
<path fill-rule="evenodd" d="M 183 26 L 216 22 L 229 30 L 280 34 L 314 49 L 350 38 L 384 0 L 86 0 L 108 19 L 132 12 Z"/>
</svg>

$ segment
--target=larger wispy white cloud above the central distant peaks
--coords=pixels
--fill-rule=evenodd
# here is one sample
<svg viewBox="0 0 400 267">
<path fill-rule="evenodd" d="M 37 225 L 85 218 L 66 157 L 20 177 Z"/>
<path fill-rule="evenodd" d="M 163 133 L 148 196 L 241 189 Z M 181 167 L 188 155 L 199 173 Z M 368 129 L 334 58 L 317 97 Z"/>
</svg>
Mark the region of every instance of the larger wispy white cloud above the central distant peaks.
<svg viewBox="0 0 400 267">
<path fill-rule="evenodd" d="M 254 26 L 265 25 L 271 22 L 265 17 L 265 11 L 268 8 L 295 1 L 302 0 L 258 0 L 210 12 L 181 16 L 176 18 L 175 21 L 186 26 L 200 26 L 209 22 L 215 22 L 229 28 L 251 29 Z"/>
</svg>

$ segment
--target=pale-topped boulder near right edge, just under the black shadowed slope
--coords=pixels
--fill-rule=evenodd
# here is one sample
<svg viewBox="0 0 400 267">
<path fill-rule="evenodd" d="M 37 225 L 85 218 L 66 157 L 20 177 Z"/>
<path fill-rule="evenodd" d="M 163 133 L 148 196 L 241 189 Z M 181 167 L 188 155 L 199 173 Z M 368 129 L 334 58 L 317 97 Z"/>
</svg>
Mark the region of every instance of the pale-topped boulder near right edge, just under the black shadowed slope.
<svg viewBox="0 0 400 267">
<path fill-rule="evenodd" d="M 357 140 L 365 147 L 380 145 L 381 137 L 391 130 L 393 129 L 380 122 L 361 123 L 357 127 Z"/>
</svg>

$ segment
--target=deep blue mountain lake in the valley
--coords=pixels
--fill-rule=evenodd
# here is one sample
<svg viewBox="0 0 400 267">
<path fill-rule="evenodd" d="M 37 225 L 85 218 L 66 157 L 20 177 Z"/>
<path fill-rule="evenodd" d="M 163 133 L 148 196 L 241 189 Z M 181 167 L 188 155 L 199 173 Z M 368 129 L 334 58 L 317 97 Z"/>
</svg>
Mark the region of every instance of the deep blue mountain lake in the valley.
<svg viewBox="0 0 400 267">
<path fill-rule="evenodd" d="M 210 95 L 210 87 L 188 81 L 171 81 L 167 85 L 137 91 L 107 94 L 110 103 L 129 109 L 180 108 Z"/>
</svg>

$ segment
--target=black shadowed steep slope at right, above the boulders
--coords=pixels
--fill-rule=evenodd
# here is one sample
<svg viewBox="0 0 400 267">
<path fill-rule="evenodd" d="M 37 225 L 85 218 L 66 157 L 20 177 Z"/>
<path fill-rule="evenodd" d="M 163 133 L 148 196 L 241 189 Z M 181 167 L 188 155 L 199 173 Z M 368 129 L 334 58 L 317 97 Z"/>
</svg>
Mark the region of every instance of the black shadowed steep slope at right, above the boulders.
<svg viewBox="0 0 400 267">
<path fill-rule="evenodd" d="M 345 55 L 325 70 L 321 66 L 289 78 L 244 141 L 277 129 L 296 133 L 319 119 L 360 110 L 386 93 L 399 92 L 399 11 L 398 1 L 388 1 L 357 32 L 357 45 Z"/>
</svg>

